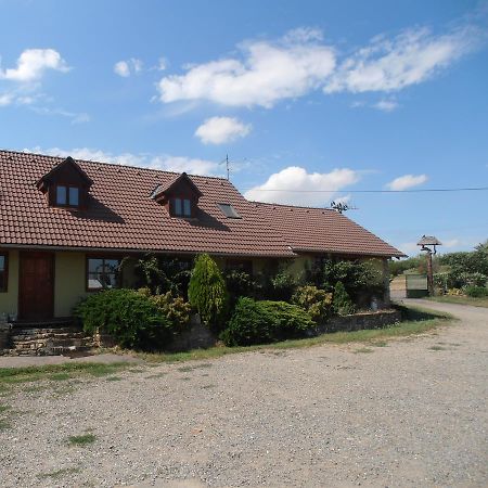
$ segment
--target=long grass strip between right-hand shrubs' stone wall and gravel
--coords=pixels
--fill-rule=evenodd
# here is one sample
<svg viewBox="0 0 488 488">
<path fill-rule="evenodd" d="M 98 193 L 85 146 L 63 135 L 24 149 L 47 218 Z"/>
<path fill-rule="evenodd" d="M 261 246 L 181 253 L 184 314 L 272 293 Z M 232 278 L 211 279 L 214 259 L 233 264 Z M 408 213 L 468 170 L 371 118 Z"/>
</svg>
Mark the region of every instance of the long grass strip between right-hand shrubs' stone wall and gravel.
<svg viewBox="0 0 488 488">
<path fill-rule="evenodd" d="M 449 313 L 437 312 L 418 307 L 398 307 L 403 317 L 408 318 L 406 322 L 400 322 L 384 329 L 368 329 L 363 331 L 354 332 L 333 332 L 330 334 L 322 334 L 317 337 L 284 341 L 274 344 L 264 344 L 259 346 L 248 347 L 226 347 L 216 346 L 208 349 L 193 349 L 185 352 L 140 352 L 138 356 L 147 362 L 185 362 L 185 361 L 202 361 L 205 359 L 221 358 L 227 355 L 234 355 L 240 352 L 251 351 L 271 351 L 277 354 L 282 349 L 298 349 L 301 347 L 320 346 L 324 344 L 348 344 L 348 343 L 367 343 L 378 347 L 387 345 L 388 339 L 409 337 L 424 333 L 432 333 L 435 329 L 447 325 L 449 321 L 454 318 Z M 192 367 L 182 367 L 179 371 L 190 371 Z M 190 369 L 189 369 L 190 368 Z"/>
</svg>

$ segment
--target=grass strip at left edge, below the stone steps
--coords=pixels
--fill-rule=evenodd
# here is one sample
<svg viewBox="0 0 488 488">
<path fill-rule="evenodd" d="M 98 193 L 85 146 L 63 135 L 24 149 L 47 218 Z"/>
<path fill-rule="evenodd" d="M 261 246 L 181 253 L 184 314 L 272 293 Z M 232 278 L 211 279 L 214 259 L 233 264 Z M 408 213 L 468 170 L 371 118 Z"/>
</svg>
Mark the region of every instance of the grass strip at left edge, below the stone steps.
<svg viewBox="0 0 488 488">
<path fill-rule="evenodd" d="M 0 368 L 0 389 L 15 384 L 37 381 L 65 381 L 84 376 L 108 376 L 118 371 L 123 371 L 128 367 L 129 364 L 127 362 L 116 362 L 112 364 L 68 362 L 64 364 L 48 364 L 41 367 Z"/>
</svg>

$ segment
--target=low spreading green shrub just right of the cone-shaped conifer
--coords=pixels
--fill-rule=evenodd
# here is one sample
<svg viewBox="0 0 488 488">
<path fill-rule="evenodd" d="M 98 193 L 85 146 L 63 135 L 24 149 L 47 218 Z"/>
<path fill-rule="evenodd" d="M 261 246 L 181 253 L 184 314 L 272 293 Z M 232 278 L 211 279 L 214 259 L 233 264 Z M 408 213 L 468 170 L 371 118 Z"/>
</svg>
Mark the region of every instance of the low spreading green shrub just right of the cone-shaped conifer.
<svg viewBox="0 0 488 488">
<path fill-rule="evenodd" d="M 295 305 L 243 297 L 220 338 L 227 346 L 251 346 L 304 337 L 313 328 L 310 316 Z"/>
</svg>

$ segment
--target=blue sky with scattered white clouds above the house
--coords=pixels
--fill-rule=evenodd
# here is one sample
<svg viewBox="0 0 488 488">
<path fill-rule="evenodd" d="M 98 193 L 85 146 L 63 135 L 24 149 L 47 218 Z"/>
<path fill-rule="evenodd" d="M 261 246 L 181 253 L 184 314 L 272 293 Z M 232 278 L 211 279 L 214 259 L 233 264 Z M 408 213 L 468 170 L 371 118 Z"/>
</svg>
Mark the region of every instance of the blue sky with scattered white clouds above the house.
<svg viewBox="0 0 488 488">
<path fill-rule="evenodd" d="M 488 192 L 406 191 L 488 187 L 486 1 L 0 0 L 0 147 L 208 175 L 229 154 L 249 198 L 343 198 L 408 254 L 488 239 Z"/>
</svg>

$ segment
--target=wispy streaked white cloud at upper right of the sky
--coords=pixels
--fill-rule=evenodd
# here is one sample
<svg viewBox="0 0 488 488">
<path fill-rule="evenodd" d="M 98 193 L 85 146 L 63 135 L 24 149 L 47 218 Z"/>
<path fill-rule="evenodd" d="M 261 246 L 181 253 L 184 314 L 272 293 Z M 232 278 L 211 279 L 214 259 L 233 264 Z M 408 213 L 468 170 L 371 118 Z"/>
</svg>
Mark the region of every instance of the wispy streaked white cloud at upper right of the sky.
<svg viewBox="0 0 488 488">
<path fill-rule="evenodd" d="M 434 36 L 426 28 L 408 29 L 393 39 L 377 36 L 346 59 L 331 77 L 326 93 L 395 91 L 431 78 L 479 40 L 475 27 Z"/>
</svg>

